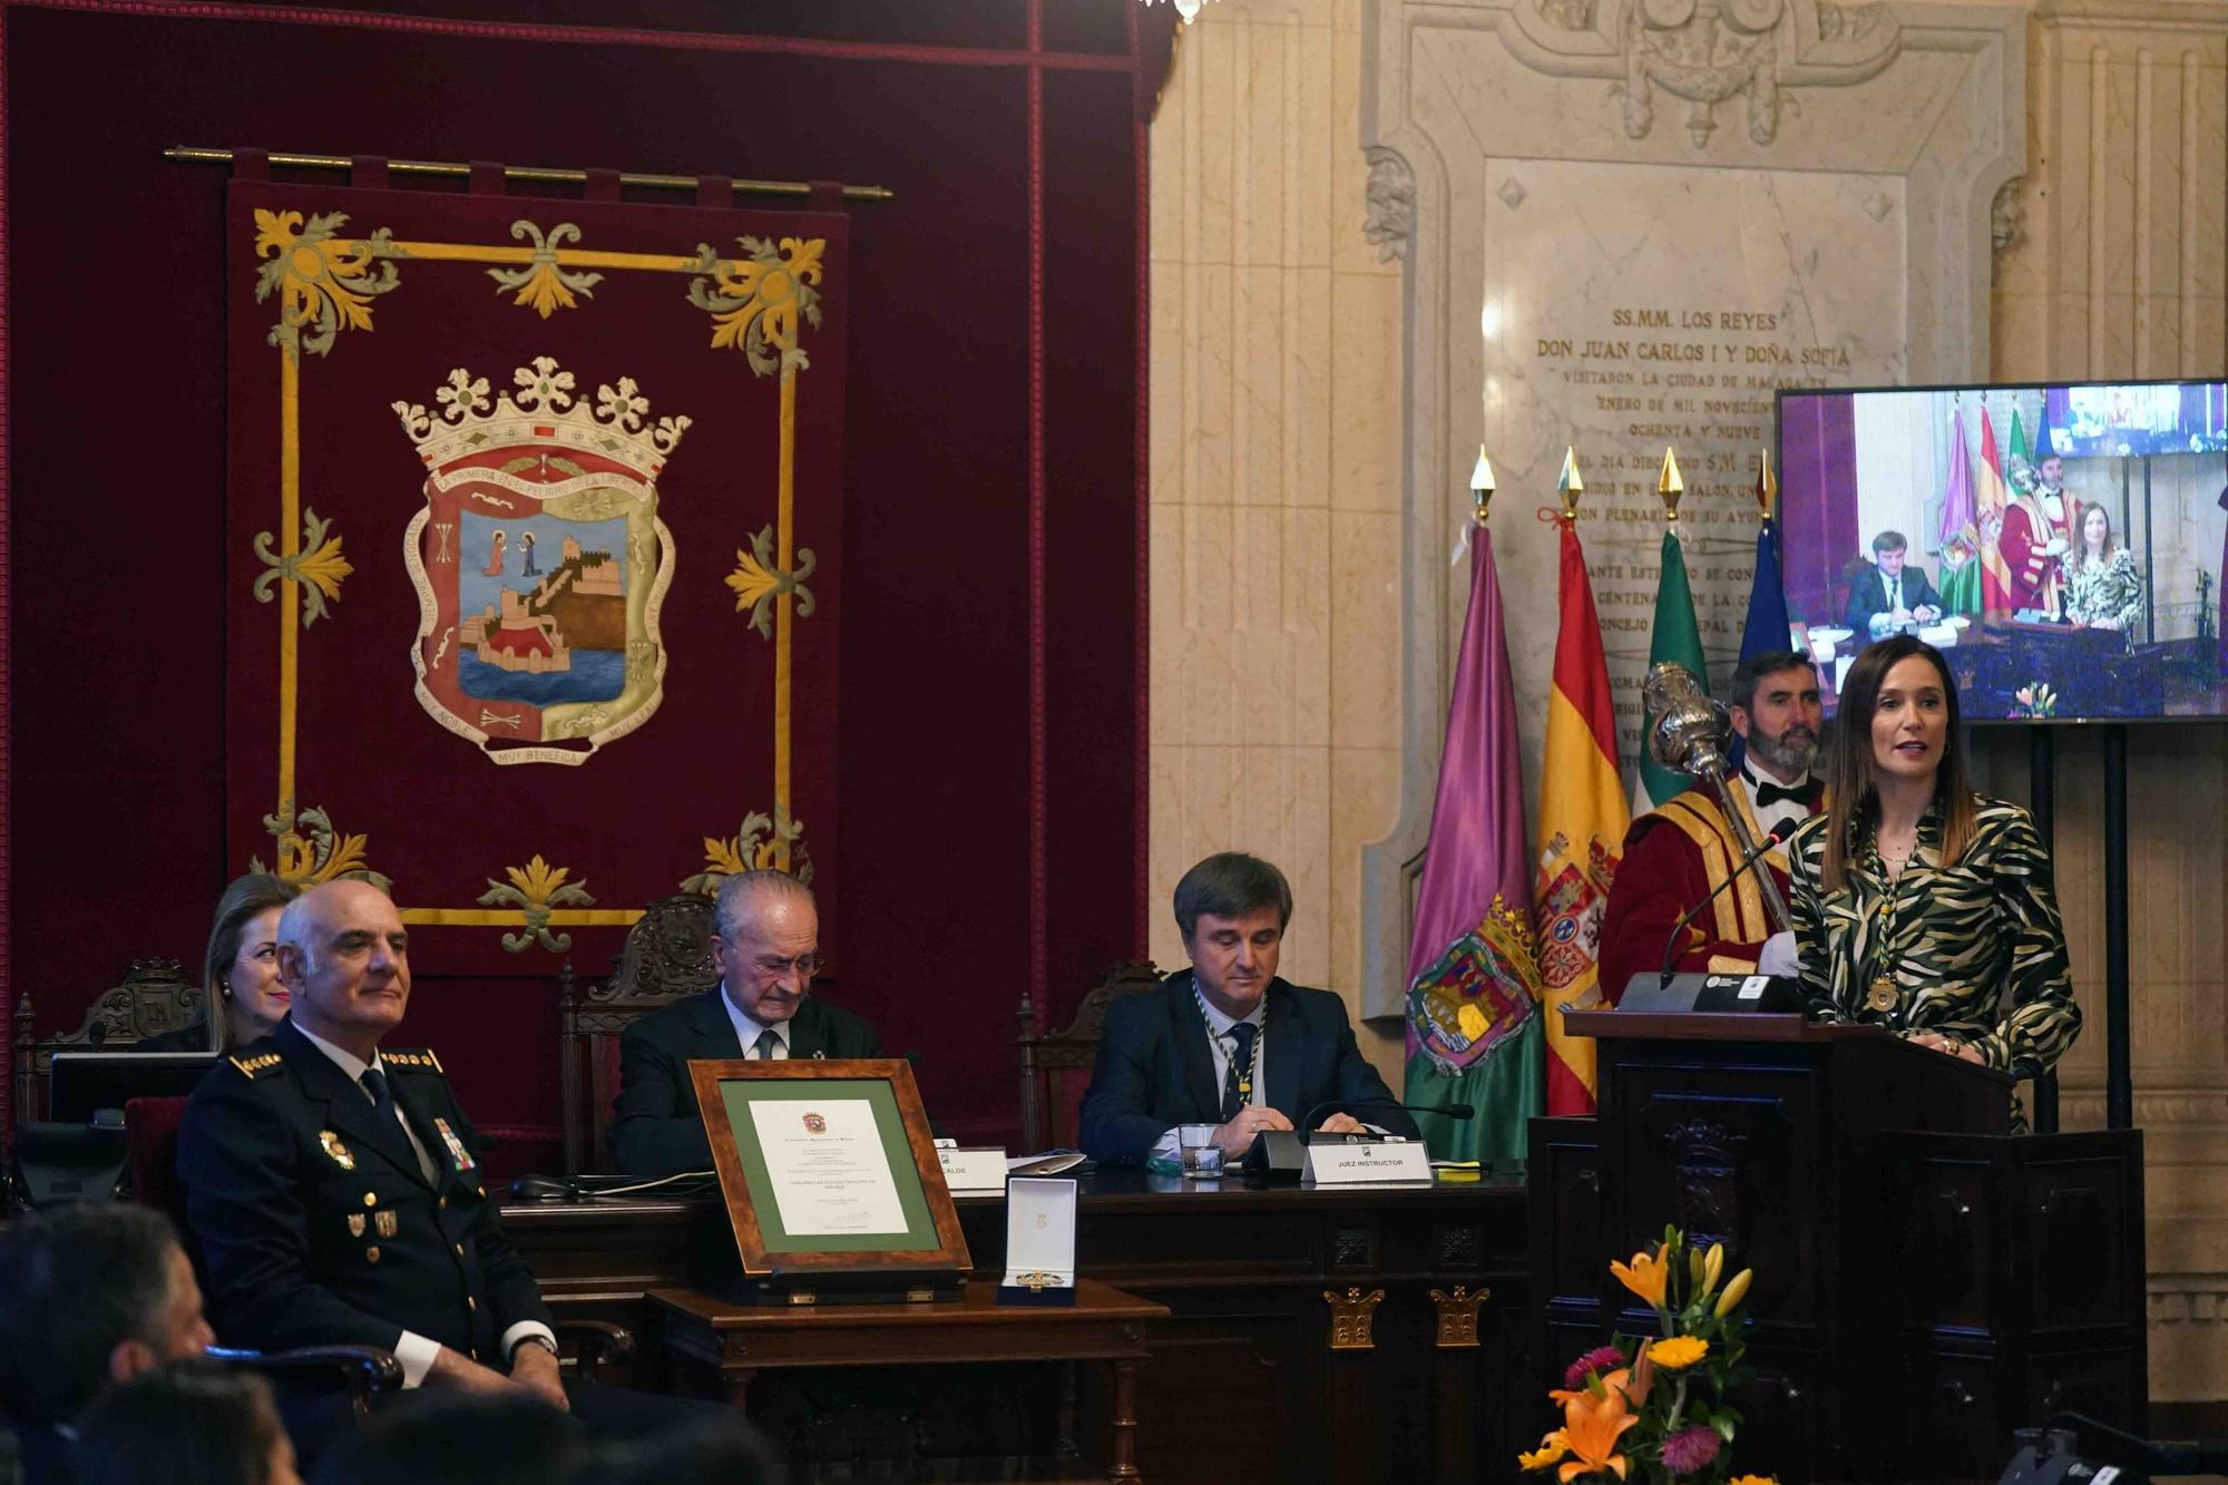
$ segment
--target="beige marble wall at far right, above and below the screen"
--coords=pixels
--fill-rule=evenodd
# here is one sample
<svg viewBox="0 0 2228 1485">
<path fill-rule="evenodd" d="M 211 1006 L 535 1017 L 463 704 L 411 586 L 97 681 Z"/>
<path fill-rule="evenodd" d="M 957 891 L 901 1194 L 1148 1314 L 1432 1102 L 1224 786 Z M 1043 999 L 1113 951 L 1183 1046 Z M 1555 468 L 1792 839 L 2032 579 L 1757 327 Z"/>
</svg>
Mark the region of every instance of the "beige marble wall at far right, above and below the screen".
<svg viewBox="0 0 2228 1485">
<path fill-rule="evenodd" d="M 2228 4 L 2039 4 L 2027 174 L 1996 212 L 1994 375 L 2219 377 L 2228 357 Z M 2206 470 L 2217 493 L 2221 470 Z M 2192 553 L 2159 575 L 2195 591 Z M 2217 598 L 2217 595 L 2215 595 Z M 2025 747 L 1990 760 L 2005 792 Z M 2090 1030 L 2068 1128 L 2103 1124 L 2103 749 L 2065 734 L 2059 901 Z M 2201 825 L 2197 825 L 2201 821 Z M 2150 1394 L 2228 1396 L 2228 727 L 2128 731 L 2134 1113 L 2146 1139 Z"/>
</svg>

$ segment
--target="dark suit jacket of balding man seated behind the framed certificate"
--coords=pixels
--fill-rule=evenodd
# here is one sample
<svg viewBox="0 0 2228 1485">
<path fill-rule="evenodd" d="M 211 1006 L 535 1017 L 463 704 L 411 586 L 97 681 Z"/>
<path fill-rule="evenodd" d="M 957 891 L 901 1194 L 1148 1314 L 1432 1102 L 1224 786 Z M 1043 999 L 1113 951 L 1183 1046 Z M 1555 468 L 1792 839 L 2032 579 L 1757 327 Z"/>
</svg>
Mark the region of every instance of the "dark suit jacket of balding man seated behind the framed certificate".
<svg viewBox="0 0 2228 1485">
<path fill-rule="evenodd" d="M 610 1159 L 633 1175 L 711 1171 L 711 1139 L 697 1117 L 688 1061 L 737 1061 L 742 1041 L 720 988 L 653 1010 L 619 1037 L 619 1101 L 610 1119 Z M 804 997 L 789 1019 L 791 1057 L 880 1057 L 864 1017 Z"/>
</svg>

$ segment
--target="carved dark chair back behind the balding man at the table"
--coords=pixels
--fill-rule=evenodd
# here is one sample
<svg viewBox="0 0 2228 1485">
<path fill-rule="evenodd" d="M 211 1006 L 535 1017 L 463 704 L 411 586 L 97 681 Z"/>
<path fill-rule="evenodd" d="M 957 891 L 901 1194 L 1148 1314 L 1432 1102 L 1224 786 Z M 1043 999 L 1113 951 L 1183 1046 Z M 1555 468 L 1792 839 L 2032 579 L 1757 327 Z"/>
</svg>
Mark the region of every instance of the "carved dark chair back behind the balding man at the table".
<svg viewBox="0 0 2228 1485">
<path fill-rule="evenodd" d="M 608 1171 L 604 1135 L 619 1097 L 619 1037 L 637 1017 L 720 983 L 711 899 L 686 892 L 651 903 L 613 959 L 606 981 L 557 977 L 557 1055 L 568 1175 Z"/>
</svg>

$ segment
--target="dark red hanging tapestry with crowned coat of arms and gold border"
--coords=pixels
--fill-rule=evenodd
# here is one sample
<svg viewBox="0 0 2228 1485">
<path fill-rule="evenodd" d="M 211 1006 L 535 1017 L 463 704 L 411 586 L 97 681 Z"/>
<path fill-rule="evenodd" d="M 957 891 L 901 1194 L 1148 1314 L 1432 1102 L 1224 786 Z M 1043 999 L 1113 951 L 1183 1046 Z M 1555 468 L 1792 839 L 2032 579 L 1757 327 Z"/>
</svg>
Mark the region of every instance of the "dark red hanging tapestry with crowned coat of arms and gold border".
<svg viewBox="0 0 2228 1485">
<path fill-rule="evenodd" d="M 385 881 L 446 974 L 827 874 L 847 219 L 227 212 L 227 865 Z"/>
</svg>

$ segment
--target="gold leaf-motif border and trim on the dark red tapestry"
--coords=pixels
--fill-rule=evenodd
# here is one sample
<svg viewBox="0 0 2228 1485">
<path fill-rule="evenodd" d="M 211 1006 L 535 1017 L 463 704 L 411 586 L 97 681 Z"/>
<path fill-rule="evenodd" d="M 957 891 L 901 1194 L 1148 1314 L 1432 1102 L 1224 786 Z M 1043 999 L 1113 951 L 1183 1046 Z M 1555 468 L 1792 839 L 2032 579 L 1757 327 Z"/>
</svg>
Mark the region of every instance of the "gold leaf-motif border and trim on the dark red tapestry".
<svg viewBox="0 0 2228 1485">
<path fill-rule="evenodd" d="M 218 152 L 169 154 L 218 158 Z M 229 158 L 229 152 L 221 156 Z M 336 163 L 336 156 L 270 156 L 270 161 L 323 165 Z M 399 165 L 390 163 L 390 169 Z M 428 167 L 428 174 L 437 169 L 448 167 Z M 541 172 L 528 178 L 568 176 Z M 693 279 L 686 290 L 688 303 L 711 317 L 709 346 L 742 352 L 760 377 L 778 375 L 775 526 L 753 537 L 753 551 L 737 551 L 737 569 L 726 578 L 735 589 L 737 611 L 749 611 L 746 624 L 771 640 L 775 651 L 773 814 L 769 818 L 749 812 L 735 836 L 706 836 L 709 870 L 682 887 L 709 892 L 720 876 L 753 865 L 791 870 L 793 858 L 804 854 L 802 821 L 791 818 L 791 649 L 793 622 L 811 615 L 813 595 L 804 586 L 804 578 L 811 575 L 811 551 L 807 549 L 800 560 L 795 546 L 795 421 L 798 372 L 811 366 L 800 343 L 800 323 L 820 323 L 818 292 L 811 285 L 820 283 L 827 239 L 784 236 L 773 243 L 744 236 L 737 239 L 742 256 L 720 256 L 711 248 L 700 248 L 695 254 L 599 252 L 577 245 L 582 232 L 573 223 L 559 221 L 544 232 L 535 221 L 561 216 L 564 210 L 561 201 L 521 198 L 521 216 L 510 227 L 515 243 L 397 241 L 385 227 L 345 236 L 341 227 L 348 219 L 336 212 L 256 210 L 256 299 L 276 297 L 281 310 L 270 332 L 270 343 L 278 350 L 281 404 L 276 549 L 272 533 L 258 533 L 254 542 L 256 555 L 265 562 L 254 584 L 256 598 L 265 602 L 276 598 L 278 604 L 278 780 L 276 812 L 263 823 L 276 838 L 276 872 L 287 881 L 365 876 L 383 883 L 372 865 L 368 834 L 348 834 L 325 812 L 296 805 L 301 635 L 319 618 L 330 615 L 328 602 L 341 598 L 341 584 L 352 571 L 343 557 L 343 537 L 301 499 L 301 375 L 305 350 L 325 357 L 343 332 L 372 332 L 377 299 L 401 288 L 401 265 L 410 263 L 488 265 L 501 290 L 515 290 L 510 303 L 541 319 L 579 310 L 579 301 L 593 299 L 593 288 L 606 272 L 686 274 Z M 537 357 L 532 370 L 519 368 L 517 379 L 524 406 L 532 406 L 535 395 L 548 397 L 555 388 L 573 386 L 570 372 L 559 372 L 548 357 Z M 455 433 L 466 412 L 488 408 L 483 377 L 472 381 L 470 372 L 452 372 L 450 384 L 439 390 L 437 399 L 446 404 L 439 412 L 414 404 L 394 406 L 403 428 L 421 448 L 443 433 Z M 662 419 L 655 428 L 644 428 L 648 404 L 637 397 L 631 379 L 619 379 L 617 388 L 597 388 L 597 417 L 608 417 L 608 428 L 631 433 L 644 446 L 655 439 L 657 450 L 671 448 L 688 421 Z M 504 406 L 515 406 L 508 395 Z M 671 562 L 671 542 L 664 555 Z M 659 564 L 666 573 L 668 562 Z M 617 729 L 599 736 L 617 736 Z M 517 758 L 490 754 L 497 763 L 582 763 L 586 756 L 557 749 L 519 749 Z M 510 952 L 524 952 L 532 943 L 564 952 L 570 948 L 570 936 L 553 930 L 624 928 L 642 916 L 639 910 L 595 908 L 586 881 L 568 881 L 568 867 L 553 867 L 541 854 L 501 870 L 508 881 L 490 876 L 488 892 L 477 905 L 408 908 L 401 919 L 428 925 L 510 928 L 517 930 L 504 936 L 504 948 Z"/>
</svg>

